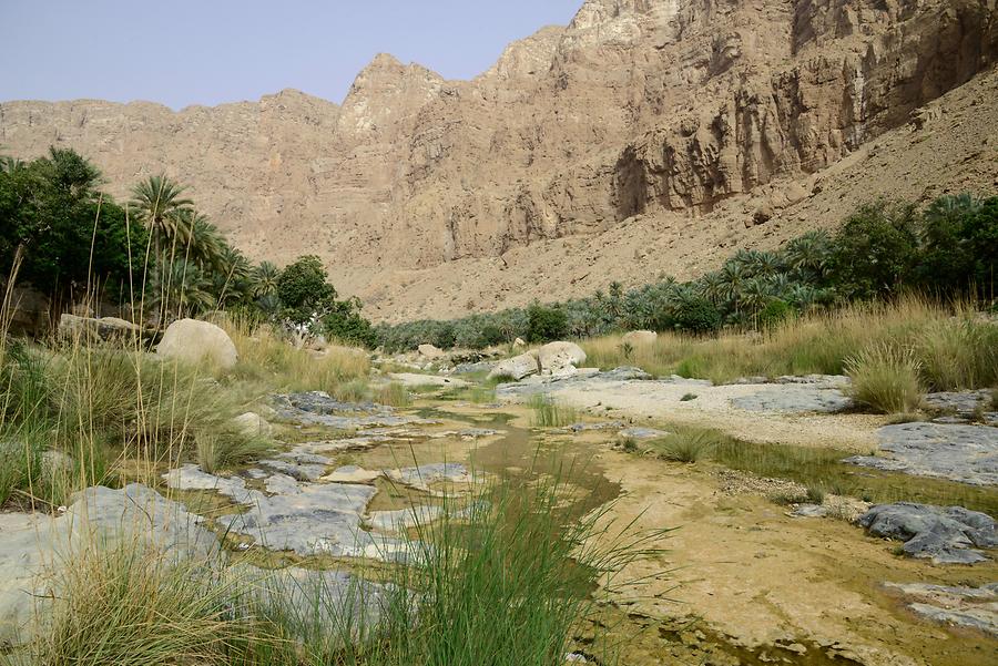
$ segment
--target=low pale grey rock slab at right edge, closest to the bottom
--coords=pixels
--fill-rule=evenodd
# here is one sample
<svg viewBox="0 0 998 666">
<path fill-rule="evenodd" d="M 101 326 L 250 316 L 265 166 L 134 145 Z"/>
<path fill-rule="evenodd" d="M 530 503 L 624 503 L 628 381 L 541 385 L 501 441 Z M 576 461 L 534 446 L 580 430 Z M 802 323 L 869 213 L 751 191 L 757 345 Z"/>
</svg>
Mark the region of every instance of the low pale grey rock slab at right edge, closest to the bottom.
<svg viewBox="0 0 998 666">
<path fill-rule="evenodd" d="M 886 583 L 912 601 L 908 608 L 940 624 L 970 627 L 998 638 L 998 583 L 980 587 Z"/>
</svg>

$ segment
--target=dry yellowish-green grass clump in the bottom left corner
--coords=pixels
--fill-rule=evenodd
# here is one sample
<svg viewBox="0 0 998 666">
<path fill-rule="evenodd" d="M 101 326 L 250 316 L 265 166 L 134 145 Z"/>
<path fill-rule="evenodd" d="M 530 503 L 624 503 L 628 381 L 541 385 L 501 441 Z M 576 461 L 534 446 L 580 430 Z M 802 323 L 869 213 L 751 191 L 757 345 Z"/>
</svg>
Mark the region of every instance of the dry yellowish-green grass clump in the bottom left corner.
<svg viewBox="0 0 998 666">
<path fill-rule="evenodd" d="M 232 664 L 232 585 L 204 563 L 173 562 L 134 541 L 73 553 L 53 576 L 38 666 Z M 26 664 L 29 662 L 26 662 Z"/>
</svg>

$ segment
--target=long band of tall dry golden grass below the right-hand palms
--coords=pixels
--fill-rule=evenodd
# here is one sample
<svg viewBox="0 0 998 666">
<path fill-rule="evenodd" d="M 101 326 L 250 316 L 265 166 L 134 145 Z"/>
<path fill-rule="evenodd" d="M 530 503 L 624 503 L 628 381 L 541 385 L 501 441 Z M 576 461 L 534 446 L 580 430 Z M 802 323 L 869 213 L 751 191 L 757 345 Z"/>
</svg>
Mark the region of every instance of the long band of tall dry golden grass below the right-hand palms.
<svg viewBox="0 0 998 666">
<path fill-rule="evenodd" d="M 931 390 L 998 383 L 998 325 L 977 319 L 966 304 L 945 307 L 918 296 L 853 304 L 760 332 L 716 338 L 664 332 L 627 355 L 621 336 L 581 345 L 589 361 L 601 368 L 634 365 L 660 377 L 681 375 L 723 383 L 754 376 L 842 375 L 857 349 L 884 344 L 913 349 L 920 380 Z"/>
</svg>

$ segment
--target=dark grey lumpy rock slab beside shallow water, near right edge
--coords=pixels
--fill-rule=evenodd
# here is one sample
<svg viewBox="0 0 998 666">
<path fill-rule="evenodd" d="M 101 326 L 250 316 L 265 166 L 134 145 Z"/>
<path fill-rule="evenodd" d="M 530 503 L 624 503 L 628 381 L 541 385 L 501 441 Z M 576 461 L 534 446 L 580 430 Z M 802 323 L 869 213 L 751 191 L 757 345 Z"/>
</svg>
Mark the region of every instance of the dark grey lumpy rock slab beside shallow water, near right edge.
<svg viewBox="0 0 998 666">
<path fill-rule="evenodd" d="M 974 564 L 998 546 L 998 530 L 986 513 L 963 506 L 897 502 L 873 506 L 856 521 L 875 536 L 904 541 L 906 554 L 937 564 Z"/>
</svg>

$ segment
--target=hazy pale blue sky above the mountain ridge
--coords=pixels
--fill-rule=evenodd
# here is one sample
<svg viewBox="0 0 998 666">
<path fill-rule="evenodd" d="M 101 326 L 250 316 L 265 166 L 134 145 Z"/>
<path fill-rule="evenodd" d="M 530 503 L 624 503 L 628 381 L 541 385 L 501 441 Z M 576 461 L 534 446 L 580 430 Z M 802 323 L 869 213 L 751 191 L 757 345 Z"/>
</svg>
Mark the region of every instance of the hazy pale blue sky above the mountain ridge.
<svg viewBox="0 0 998 666">
<path fill-rule="evenodd" d="M 180 109 L 284 88 L 343 101 L 388 52 L 449 79 L 582 0 L 0 0 L 0 101 L 149 100 Z"/>
</svg>

